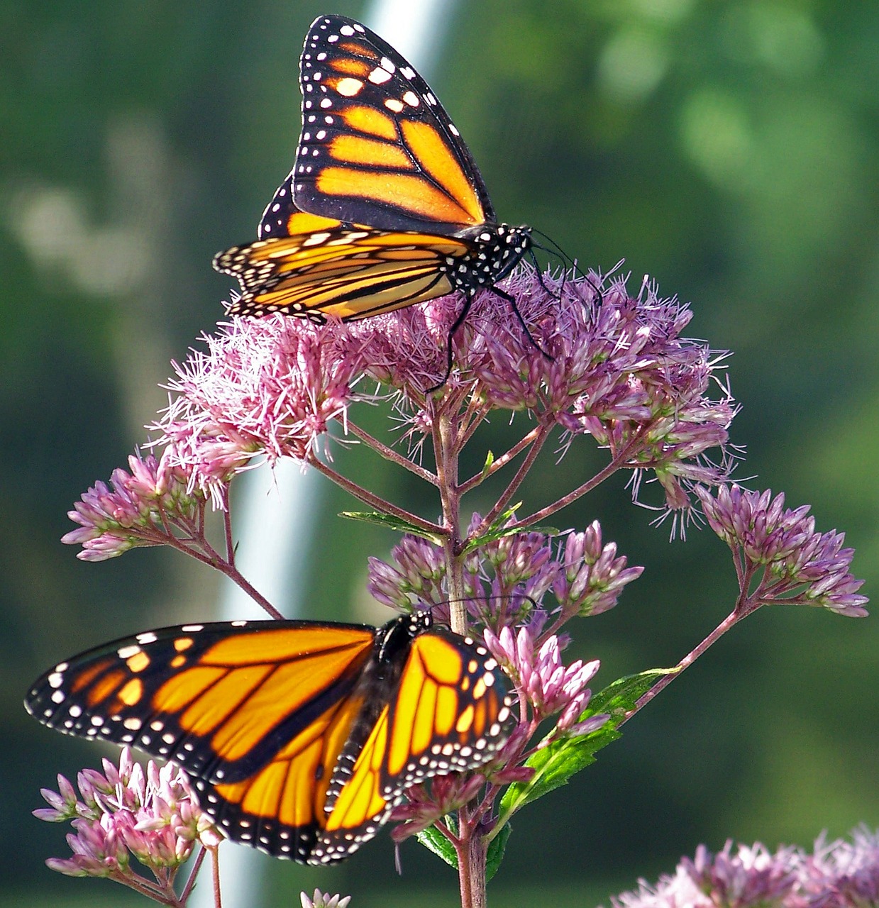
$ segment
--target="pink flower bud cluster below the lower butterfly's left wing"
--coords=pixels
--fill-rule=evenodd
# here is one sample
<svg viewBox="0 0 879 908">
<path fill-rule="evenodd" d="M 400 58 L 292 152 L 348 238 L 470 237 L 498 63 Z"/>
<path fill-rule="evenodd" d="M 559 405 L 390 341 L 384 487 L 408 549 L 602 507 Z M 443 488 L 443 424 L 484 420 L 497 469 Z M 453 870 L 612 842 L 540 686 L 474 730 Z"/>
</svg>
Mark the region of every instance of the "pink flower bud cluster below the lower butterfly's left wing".
<svg viewBox="0 0 879 908">
<path fill-rule="evenodd" d="M 170 884 L 173 871 L 197 842 L 214 846 L 222 841 L 198 806 L 183 770 L 173 763 L 160 769 L 150 760 L 144 772 L 125 747 L 118 766 L 105 759 L 103 774 L 84 769 L 77 785 L 78 796 L 59 775 L 57 792 L 42 790 L 49 806 L 34 811 L 41 820 L 72 821 L 75 833 L 67 835 L 67 844 L 73 857 L 46 861 L 59 873 L 111 877 L 141 888 L 143 878 L 130 864 L 133 855 L 162 883 Z"/>
</svg>

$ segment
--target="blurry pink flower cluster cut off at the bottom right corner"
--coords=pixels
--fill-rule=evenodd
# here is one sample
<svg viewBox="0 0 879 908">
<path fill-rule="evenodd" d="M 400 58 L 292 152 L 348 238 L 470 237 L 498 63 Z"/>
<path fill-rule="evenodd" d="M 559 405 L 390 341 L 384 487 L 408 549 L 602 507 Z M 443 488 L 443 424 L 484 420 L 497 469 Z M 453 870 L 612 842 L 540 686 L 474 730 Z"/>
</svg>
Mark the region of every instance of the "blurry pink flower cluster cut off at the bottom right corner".
<svg viewBox="0 0 879 908">
<path fill-rule="evenodd" d="M 712 854 L 699 845 L 672 875 L 611 899 L 614 908 L 867 908 L 879 903 L 879 832 L 855 829 L 851 841 L 827 843 L 812 854 L 795 846 L 775 853 L 764 844 L 727 842 Z"/>
</svg>

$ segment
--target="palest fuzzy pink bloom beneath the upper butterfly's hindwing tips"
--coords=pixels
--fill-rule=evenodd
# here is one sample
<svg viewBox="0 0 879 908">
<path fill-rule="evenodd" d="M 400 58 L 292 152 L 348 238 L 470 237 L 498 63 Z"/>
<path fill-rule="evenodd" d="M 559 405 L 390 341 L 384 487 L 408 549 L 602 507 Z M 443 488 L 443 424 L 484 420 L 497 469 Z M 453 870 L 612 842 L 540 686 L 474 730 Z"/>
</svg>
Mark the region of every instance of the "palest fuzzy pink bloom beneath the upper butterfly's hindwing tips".
<svg viewBox="0 0 879 908">
<path fill-rule="evenodd" d="M 339 323 L 281 315 L 234 319 L 208 350 L 193 350 L 153 429 L 204 494 L 258 455 L 306 459 L 335 419 L 344 421 L 365 360 Z"/>
</svg>

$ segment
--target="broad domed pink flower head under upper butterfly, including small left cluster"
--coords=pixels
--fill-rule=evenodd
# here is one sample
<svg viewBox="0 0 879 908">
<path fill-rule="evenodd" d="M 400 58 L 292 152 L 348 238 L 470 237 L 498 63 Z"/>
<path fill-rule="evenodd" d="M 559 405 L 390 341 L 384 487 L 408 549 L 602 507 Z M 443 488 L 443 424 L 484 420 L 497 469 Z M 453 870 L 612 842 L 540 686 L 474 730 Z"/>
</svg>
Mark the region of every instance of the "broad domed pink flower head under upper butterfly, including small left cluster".
<svg viewBox="0 0 879 908">
<path fill-rule="evenodd" d="M 152 426 L 163 476 L 192 499 L 190 509 L 203 499 L 225 509 L 229 483 L 243 469 L 282 457 L 314 464 L 319 452 L 327 461 L 331 425 L 347 434 L 351 404 L 372 400 L 355 394 L 367 376 L 394 389 L 410 456 L 440 412 L 463 407 L 472 434 L 491 410 L 529 410 L 541 444 L 556 426 L 568 441 L 589 434 L 609 449 L 613 469 L 635 471 L 636 492 L 652 470 L 665 507 L 686 513 L 693 483 L 723 482 L 735 459 L 727 428 L 736 407 L 716 375 L 722 357 L 681 337 L 689 312 L 660 300 L 656 288 L 644 285 L 633 298 L 622 280 L 603 284 L 598 275 L 517 271 L 504 289 L 530 336 L 509 304 L 481 291 L 452 339 L 456 368 L 430 397 L 423 389 L 442 379 L 457 295 L 346 324 L 233 319 L 175 367 L 168 408 Z M 113 485 L 96 483 L 76 506 L 82 529 L 66 540 L 84 542 L 84 558 L 154 545 L 158 531 L 169 530 L 167 502 L 157 508 L 153 489 L 133 495 L 122 474 Z M 187 501 L 179 505 L 185 510 Z"/>
</svg>

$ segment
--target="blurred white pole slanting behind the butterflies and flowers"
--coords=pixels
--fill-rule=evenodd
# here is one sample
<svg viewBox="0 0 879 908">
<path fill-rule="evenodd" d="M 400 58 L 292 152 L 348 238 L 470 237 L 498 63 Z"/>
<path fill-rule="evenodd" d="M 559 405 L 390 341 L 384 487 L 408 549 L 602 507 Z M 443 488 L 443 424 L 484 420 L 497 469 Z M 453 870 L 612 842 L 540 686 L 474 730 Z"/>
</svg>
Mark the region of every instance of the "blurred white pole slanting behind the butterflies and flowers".
<svg viewBox="0 0 879 908">
<path fill-rule="evenodd" d="M 430 76 L 457 0 L 370 0 L 363 24 L 397 48 L 420 74 Z M 235 531 L 239 541 L 236 563 L 242 574 L 286 617 L 301 615 L 301 591 L 308 586 L 314 565 L 309 543 L 321 505 L 321 478 L 314 470 L 302 474 L 291 461 L 274 469 L 254 469 L 238 480 Z M 224 581 L 218 619 L 266 617 L 239 587 Z M 220 852 L 220 879 L 224 908 L 252 908 L 261 904 L 261 855 L 251 848 L 224 844 Z M 191 908 L 212 908 L 204 867 Z M 294 900 L 295 901 L 295 900 Z"/>
</svg>

